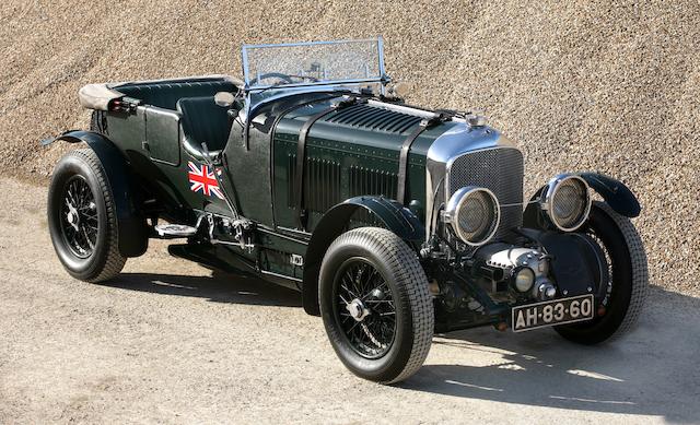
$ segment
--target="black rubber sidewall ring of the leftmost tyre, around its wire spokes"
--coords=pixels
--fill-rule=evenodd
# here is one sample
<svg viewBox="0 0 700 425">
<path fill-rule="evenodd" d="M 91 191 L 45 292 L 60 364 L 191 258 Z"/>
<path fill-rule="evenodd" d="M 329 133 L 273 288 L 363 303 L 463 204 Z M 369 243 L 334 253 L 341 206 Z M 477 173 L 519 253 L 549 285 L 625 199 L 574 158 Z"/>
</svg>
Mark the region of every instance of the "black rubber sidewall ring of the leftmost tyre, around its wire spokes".
<svg viewBox="0 0 700 425">
<path fill-rule="evenodd" d="M 100 184 L 97 173 L 102 175 L 102 169 L 95 170 L 91 164 L 79 156 L 79 152 L 74 151 L 63 156 L 54 170 L 48 191 L 48 228 L 56 255 L 68 273 L 75 279 L 91 281 L 105 268 L 109 253 L 108 226 L 116 224 L 107 222 L 105 196 L 110 197 L 110 193 L 105 193 Z M 95 248 L 92 255 L 84 259 L 77 257 L 67 245 L 59 216 L 61 203 L 65 202 L 66 185 L 77 175 L 82 176 L 88 181 L 95 200 L 100 221 Z"/>
</svg>

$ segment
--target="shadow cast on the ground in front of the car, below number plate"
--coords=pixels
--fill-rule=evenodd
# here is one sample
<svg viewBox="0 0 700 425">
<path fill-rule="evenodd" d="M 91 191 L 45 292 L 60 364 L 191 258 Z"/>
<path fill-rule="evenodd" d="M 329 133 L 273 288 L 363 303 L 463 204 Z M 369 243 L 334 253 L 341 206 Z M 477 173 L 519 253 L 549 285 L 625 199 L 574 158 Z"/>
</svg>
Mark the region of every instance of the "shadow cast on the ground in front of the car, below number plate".
<svg viewBox="0 0 700 425">
<path fill-rule="evenodd" d="M 444 346 L 400 388 L 579 411 L 700 421 L 700 298 L 653 288 L 629 335 L 581 346 L 552 330 L 480 328 L 439 335 Z M 445 351 L 460 364 L 444 364 Z M 455 354 L 456 353 L 456 354 Z M 434 354 L 434 353 L 433 353 Z M 454 362 L 454 361 L 453 361 Z"/>
</svg>

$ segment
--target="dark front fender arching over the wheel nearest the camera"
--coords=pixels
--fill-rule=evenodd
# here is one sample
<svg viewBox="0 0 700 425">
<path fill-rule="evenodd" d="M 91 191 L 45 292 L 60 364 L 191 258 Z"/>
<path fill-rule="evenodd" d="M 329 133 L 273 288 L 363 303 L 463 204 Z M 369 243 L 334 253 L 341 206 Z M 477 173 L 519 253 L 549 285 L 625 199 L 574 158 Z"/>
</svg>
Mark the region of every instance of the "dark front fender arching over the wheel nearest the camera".
<svg viewBox="0 0 700 425">
<path fill-rule="evenodd" d="M 425 228 L 416 214 L 401 203 L 383 197 L 351 198 L 328 210 L 314 228 L 304 257 L 303 305 L 310 315 L 319 315 L 318 272 L 324 255 L 330 244 L 346 231 L 352 214 L 360 209 L 366 210 L 385 228 L 413 247 L 420 246 L 425 237 Z"/>
</svg>

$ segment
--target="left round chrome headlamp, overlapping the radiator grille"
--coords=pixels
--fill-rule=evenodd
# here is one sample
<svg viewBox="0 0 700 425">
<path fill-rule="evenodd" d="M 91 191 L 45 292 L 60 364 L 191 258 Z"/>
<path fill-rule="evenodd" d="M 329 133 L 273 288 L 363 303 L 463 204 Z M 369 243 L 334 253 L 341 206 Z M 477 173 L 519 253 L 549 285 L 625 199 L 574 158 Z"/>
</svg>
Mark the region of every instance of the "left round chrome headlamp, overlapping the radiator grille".
<svg viewBox="0 0 700 425">
<path fill-rule="evenodd" d="M 479 246 L 488 243 L 495 234 L 501 220 L 501 208 L 492 191 L 468 186 L 453 193 L 443 219 L 465 244 Z"/>
</svg>

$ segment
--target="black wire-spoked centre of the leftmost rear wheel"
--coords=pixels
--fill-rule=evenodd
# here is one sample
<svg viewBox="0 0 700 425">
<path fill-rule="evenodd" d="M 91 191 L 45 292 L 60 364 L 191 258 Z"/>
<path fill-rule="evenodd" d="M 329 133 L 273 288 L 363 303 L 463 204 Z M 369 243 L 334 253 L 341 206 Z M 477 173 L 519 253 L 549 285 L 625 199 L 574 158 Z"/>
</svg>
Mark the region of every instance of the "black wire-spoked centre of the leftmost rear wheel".
<svg viewBox="0 0 700 425">
<path fill-rule="evenodd" d="M 60 224 L 66 245 L 73 255 L 90 257 L 97 244 L 100 222 L 95 197 L 82 176 L 74 176 L 66 184 Z"/>
</svg>

